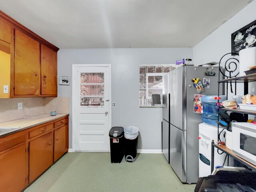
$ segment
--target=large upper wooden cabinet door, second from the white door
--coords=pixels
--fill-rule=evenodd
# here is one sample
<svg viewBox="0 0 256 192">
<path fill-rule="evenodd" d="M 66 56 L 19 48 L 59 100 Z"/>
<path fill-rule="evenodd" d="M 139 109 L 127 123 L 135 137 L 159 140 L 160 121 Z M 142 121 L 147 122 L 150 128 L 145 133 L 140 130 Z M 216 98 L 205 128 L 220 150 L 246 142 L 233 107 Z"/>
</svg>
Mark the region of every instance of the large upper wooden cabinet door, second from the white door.
<svg viewBox="0 0 256 192">
<path fill-rule="evenodd" d="M 39 42 L 15 30 L 15 95 L 38 95 L 40 92 Z"/>
</svg>

